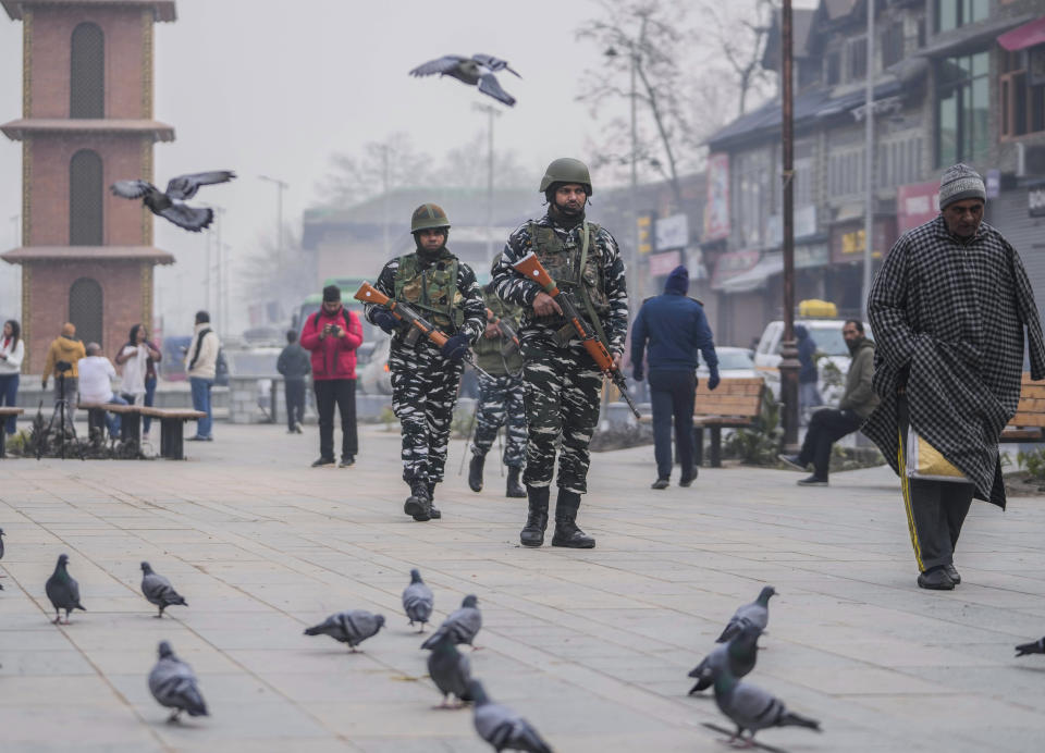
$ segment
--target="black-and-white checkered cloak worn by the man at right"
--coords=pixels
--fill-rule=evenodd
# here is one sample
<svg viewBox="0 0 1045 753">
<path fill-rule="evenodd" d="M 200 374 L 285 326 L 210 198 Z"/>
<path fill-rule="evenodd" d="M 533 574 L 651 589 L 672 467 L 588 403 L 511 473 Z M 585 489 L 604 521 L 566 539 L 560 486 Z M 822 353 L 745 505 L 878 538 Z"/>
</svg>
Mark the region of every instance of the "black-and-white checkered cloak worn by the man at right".
<svg viewBox="0 0 1045 753">
<path fill-rule="evenodd" d="M 1031 376 L 1045 378 L 1045 343 L 1020 255 L 987 223 L 967 243 L 944 218 L 893 246 L 868 296 L 882 403 L 863 432 L 899 472 L 897 388 L 906 383 L 914 431 L 1005 508 L 998 436 L 1016 413 L 1023 332 Z"/>
</svg>

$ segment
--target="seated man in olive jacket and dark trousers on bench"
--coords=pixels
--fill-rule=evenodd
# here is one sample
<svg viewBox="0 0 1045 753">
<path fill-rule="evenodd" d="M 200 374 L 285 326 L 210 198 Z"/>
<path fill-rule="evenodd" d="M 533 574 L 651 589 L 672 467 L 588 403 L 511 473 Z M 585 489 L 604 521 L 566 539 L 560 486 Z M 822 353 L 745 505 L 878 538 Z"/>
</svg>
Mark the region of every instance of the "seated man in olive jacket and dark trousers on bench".
<svg viewBox="0 0 1045 753">
<path fill-rule="evenodd" d="M 787 466 L 804 471 L 813 465 L 813 474 L 798 482 L 799 486 L 826 486 L 831 449 L 835 442 L 860 428 L 878 404 L 871 386 L 874 373 L 874 342 L 864 336 L 863 322 L 849 319 L 841 328 L 849 347 L 849 372 L 838 408 L 822 408 L 809 420 L 809 431 L 798 455 L 777 455 Z"/>
</svg>

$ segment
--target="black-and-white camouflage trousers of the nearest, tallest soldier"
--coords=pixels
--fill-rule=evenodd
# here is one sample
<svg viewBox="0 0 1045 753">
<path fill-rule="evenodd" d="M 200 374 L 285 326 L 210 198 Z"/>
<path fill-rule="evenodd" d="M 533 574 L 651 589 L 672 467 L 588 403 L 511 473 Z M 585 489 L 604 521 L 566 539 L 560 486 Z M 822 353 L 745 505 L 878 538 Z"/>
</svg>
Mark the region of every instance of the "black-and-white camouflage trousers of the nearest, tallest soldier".
<svg viewBox="0 0 1045 753">
<path fill-rule="evenodd" d="M 579 343 L 560 347 L 546 336 L 522 340 L 522 379 L 526 381 L 526 444 L 528 486 L 548 486 L 558 455 L 560 489 L 577 494 L 588 491 L 588 444 L 599 423 L 602 373 Z"/>
</svg>

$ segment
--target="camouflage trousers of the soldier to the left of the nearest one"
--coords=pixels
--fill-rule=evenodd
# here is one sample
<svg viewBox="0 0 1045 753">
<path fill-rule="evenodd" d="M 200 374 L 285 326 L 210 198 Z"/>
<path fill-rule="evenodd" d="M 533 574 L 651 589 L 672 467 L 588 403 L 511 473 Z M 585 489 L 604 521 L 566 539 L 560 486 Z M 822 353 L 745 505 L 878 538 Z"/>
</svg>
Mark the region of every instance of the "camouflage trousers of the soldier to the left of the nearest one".
<svg viewBox="0 0 1045 753">
<path fill-rule="evenodd" d="M 392 410 L 403 432 L 403 479 L 443 480 L 450 423 L 464 363 L 448 361 L 433 347 L 392 343 Z"/>
</svg>

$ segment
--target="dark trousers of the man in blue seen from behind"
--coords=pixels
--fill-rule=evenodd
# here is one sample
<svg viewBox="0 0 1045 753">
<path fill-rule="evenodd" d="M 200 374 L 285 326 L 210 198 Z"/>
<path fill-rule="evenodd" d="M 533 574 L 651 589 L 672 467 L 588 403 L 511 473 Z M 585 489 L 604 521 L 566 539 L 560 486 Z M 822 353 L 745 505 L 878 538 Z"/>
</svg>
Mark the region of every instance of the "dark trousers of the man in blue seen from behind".
<svg viewBox="0 0 1045 753">
<path fill-rule="evenodd" d="M 650 403 L 653 406 L 653 456 L 656 478 L 672 477 L 672 424 L 683 478 L 693 474 L 693 398 L 697 374 L 692 370 L 650 369 Z"/>
</svg>

